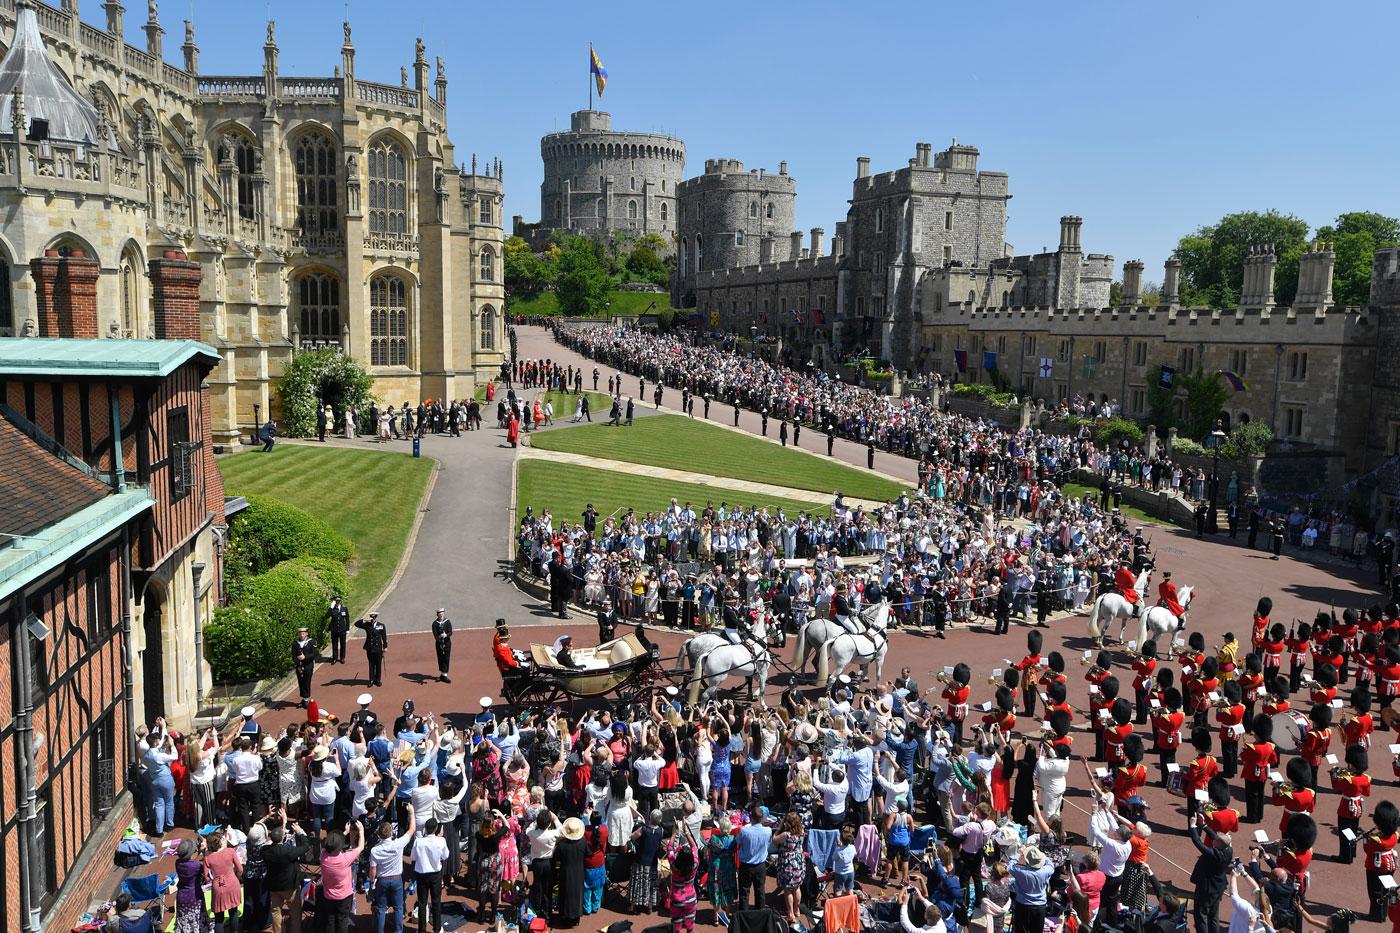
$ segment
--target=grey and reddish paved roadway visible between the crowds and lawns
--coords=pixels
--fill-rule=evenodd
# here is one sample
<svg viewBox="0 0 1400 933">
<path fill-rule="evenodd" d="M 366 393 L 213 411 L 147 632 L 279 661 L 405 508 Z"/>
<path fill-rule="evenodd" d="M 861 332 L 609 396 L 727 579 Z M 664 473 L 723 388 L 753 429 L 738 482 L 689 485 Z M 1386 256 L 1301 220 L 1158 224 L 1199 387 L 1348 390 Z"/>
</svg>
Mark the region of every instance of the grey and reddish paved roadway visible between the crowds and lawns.
<svg viewBox="0 0 1400 933">
<path fill-rule="evenodd" d="M 563 350 L 535 328 L 522 328 L 522 357 L 552 357 L 564 364 L 584 366 L 592 371 L 592 363 Z M 609 371 L 603 370 L 601 385 L 606 385 Z M 624 388 L 636 388 L 636 380 L 626 377 Z M 585 388 L 591 388 L 591 377 L 585 377 Z M 679 406 L 679 392 L 666 392 L 665 402 Z M 640 408 L 640 406 L 638 406 Z M 725 423 L 732 423 L 732 409 L 713 406 L 711 415 L 722 415 Z M 403 699 L 413 698 L 419 710 L 433 710 L 440 719 L 463 721 L 476 709 L 477 698 L 489 695 L 500 698 L 500 679 L 490 660 L 490 625 L 498 618 L 507 618 L 514 628 L 535 626 L 519 632 L 515 642 L 521 646 L 529 642 L 550 643 L 564 630 L 573 630 L 584 644 L 595 640 L 594 626 L 587 622 L 563 622 L 549 615 L 547 607 L 522 594 L 505 576 L 507 537 L 511 534 L 511 465 L 518 451 L 505 445 L 504 431 L 494 424 L 494 409 L 486 412 L 487 430 L 463 434 L 459 438 L 426 438 L 424 452 L 441 461 L 441 469 L 433 488 L 428 511 L 406 572 L 384 598 L 381 611 L 398 635 L 391 644 L 386 663 L 385 686 L 374 691 L 374 707 L 381 714 L 392 714 Z M 759 417 L 750 412 L 741 416 L 741 427 L 759 433 Z M 819 438 L 812 437 L 813 441 Z M 342 441 L 343 443 L 343 441 Z M 361 441 L 356 441 L 361 443 Z M 825 444 L 825 438 L 822 438 Z M 403 444 L 399 444 L 402 448 Z M 865 450 L 846 441 L 837 441 L 837 455 L 864 466 Z M 876 469 L 907 479 L 913 478 L 914 465 L 910 461 L 889 455 L 876 458 Z M 1379 593 L 1371 586 L 1372 576 L 1359 570 L 1327 569 L 1285 556 L 1271 560 L 1263 551 L 1249 551 L 1225 539 L 1196 539 L 1194 534 L 1170 527 L 1151 527 L 1148 535 L 1156 551 L 1162 570 L 1172 570 L 1180 584 L 1197 587 L 1200 595 L 1191 607 L 1190 629 L 1201 630 L 1210 646 L 1221 642 L 1226 630 L 1247 639 L 1250 612 L 1260 595 L 1274 600 L 1274 618 L 1288 622 L 1294 618 L 1308 619 L 1319 608 L 1365 607 L 1378 601 Z M 431 639 L 424 635 L 433 609 L 448 608 L 459 629 L 455 642 L 452 682 L 435 682 L 435 661 Z M 466 629 L 466 630 L 462 630 Z M 1014 626 L 1007 637 L 990 635 L 981 626 L 951 632 L 946 640 L 931 635 L 907 632 L 896 633 L 890 640 L 889 663 L 885 675 L 897 674 L 907 664 L 924 686 L 934 685 L 932 672 L 951 664 L 952 658 L 966 660 L 977 677 L 973 678 L 973 700 L 981 703 L 991 699 L 991 688 L 986 675 L 1004 665 L 1004 658 L 1018 658 L 1025 653 L 1025 632 Z M 1084 668 L 1075 658 L 1091 646 L 1084 616 L 1071 616 L 1057 622 L 1047 633 L 1046 650 L 1061 650 L 1070 658 L 1070 700 L 1078 709 L 1086 707 L 1088 693 L 1082 679 Z M 1130 636 L 1131 637 L 1131 636 Z M 654 640 L 666 657 L 673 657 L 683 636 L 658 632 Z M 781 663 L 774 664 L 769 681 L 769 702 L 774 702 L 777 691 L 791 681 L 787 667 L 787 653 Z M 350 660 L 344 665 L 322 665 L 315 677 L 315 695 L 323 707 L 346 714 L 353 709 L 354 696 L 365 689 L 364 654 L 357 643 L 350 646 Z M 1119 657 L 1116 674 L 1127 685 L 1128 671 L 1123 656 Z M 809 689 L 816 689 L 809 688 Z M 280 702 L 269 713 L 270 724 L 286 721 L 298 714 L 291 703 Z M 1025 726 L 1025 723 L 1023 723 Z M 1035 730 L 1037 727 L 1032 727 Z M 1389 738 L 1379 737 L 1372 751 L 1372 775 L 1376 778 L 1376 797 L 1394 797 L 1394 783 L 1389 768 L 1386 745 Z M 1077 754 L 1092 749 L 1092 737 L 1082 730 L 1075 735 Z M 1334 751 L 1340 752 L 1338 747 Z M 1154 769 L 1155 779 L 1155 769 Z M 1079 766 L 1071 772 L 1071 803 L 1086 804 L 1085 778 Z M 1326 779 L 1322 787 L 1327 787 Z M 1152 838 L 1152 863 L 1159 877 L 1189 890 L 1187 876 L 1194 862 L 1194 852 L 1184 835 L 1184 815 L 1180 801 L 1152 786 L 1147 793 L 1152 806 L 1149 818 L 1156 834 Z M 1372 800 L 1373 807 L 1375 797 Z M 1344 867 L 1334 862 L 1337 845 L 1333 835 L 1336 794 L 1323 790 L 1319 796 L 1316 815 L 1320 822 L 1316 857 L 1313 860 L 1312 904 L 1329 908 L 1362 908 L 1359 866 Z M 1067 808 L 1067 824 L 1072 832 L 1084 832 L 1086 817 L 1071 806 Z M 1243 803 L 1236 801 L 1243 810 Z M 1369 807 L 1368 807 L 1369 813 Z M 1259 828 L 1277 838 L 1278 811 L 1270 807 L 1266 821 Z M 1254 827 L 1250 827 L 1253 831 Z M 1242 850 L 1242 848 L 1240 848 Z M 601 927 L 613 915 L 605 912 L 595 918 L 591 929 Z M 700 915 L 701 923 L 713 922 L 708 909 Z"/>
</svg>

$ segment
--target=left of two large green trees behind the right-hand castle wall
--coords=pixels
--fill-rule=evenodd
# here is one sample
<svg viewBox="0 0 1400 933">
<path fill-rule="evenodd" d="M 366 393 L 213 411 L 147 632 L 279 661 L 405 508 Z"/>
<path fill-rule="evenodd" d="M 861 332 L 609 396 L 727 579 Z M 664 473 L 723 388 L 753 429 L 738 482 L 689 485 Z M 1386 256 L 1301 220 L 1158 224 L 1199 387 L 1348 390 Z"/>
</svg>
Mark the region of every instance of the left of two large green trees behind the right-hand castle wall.
<svg viewBox="0 0 1400 933">
<path fill-rule="evenodd" d="M 1308 240 L 1308 221 L 1275 210 L 1225 214 L 1218 223 L 1182 237 L 1182 300 L 1228 308 L 1239 304 L 1245 256 L 1250 247 L 1273 245 L 1278 255 L 1274 300 L 1291 304 L 1298 290 L 1298 256 Z"/>
</svg>

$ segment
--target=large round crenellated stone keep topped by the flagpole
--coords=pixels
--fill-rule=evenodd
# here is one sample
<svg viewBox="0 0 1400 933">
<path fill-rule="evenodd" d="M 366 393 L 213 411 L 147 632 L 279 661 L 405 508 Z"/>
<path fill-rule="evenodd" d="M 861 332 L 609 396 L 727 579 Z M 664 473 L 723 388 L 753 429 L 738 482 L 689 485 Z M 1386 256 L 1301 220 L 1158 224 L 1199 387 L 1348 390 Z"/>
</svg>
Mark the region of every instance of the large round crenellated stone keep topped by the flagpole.
<svg viewBox="0 0 1400 933">
<path fill-rule="evenodd" d="M 542 230 L 603 237 L 658 234 L 675 241 L 676 188 L 685 177 L 686 144 L 673 136 L 622 133 L 612 115 L 578 111 L 567 133 L 540 143 Z"/>
</svg>

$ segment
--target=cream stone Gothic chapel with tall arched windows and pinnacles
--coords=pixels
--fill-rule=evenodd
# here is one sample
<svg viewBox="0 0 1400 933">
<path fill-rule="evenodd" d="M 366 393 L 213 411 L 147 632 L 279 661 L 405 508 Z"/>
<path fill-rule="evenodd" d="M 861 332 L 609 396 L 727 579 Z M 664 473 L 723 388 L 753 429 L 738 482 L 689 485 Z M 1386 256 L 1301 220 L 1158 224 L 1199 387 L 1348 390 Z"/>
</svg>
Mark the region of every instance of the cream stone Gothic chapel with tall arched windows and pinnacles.
<svg viewBox="0 0 1400 933">
<path fill-rule="evenodd" d="M 501 165 L 458 164 L 441 57 L 434 74 L 419 41 L 398 83 L 360 78 L 346 24 L 333 76 L 288 77 L 269 22 L 260 73 L 207 76 L 190 22 L 175 66 L 154 1 L 144 49 L 104 10 L 99 28 L 76 0 L 0 0 L 0 335 L 73 336 L 71 283 L 95 290 L 101 336 L 164 336 L 160 263 L 188 256 L 218 444 L 276 413 L 300 349 L 354 354 L 391 402 L 497 370 Z"/>
</svg>

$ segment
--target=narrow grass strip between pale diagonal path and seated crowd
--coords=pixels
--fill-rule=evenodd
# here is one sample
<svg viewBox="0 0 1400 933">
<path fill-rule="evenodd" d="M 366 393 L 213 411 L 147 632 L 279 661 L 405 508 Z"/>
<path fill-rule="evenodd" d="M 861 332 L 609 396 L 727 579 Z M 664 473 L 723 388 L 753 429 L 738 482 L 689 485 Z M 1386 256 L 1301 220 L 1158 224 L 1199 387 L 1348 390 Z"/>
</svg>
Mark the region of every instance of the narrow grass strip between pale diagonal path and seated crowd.
<svg viewBox="0 0 1400 933">
<path fill-rule="evenodd" d="M 540 437 L 545 434 L 538 434 L 533 440 Z M 672 483 L 651 476 L 617 474 L 573 464 L 553 464 L 546 459 L 522 459 L 519 462 L 515 507 L 518 516 L 524 516 L 526 507 L 533 507 L 536 516 L 543 509 L 549 509 L 557 527 L 561 521 L 580 521 L 588 503 L 592 503 L 601 516 L 610 516 L 613 511 L 623 514 L 627 509 L 636 509 L 640 514 L 645 514 L 666 509 L 672 497 L 682 504 L 689 502 L 696 511 L 704 509 L 707 502 L 713 502 L 715 507 L 721 502 L 729 503 L 731 507 L 769 506 L 783 509 L 790 516 L 802 511 L 809 514 L 827 511 L 820 503 L 753 496 L 722 486 Z"/>
</svg>

